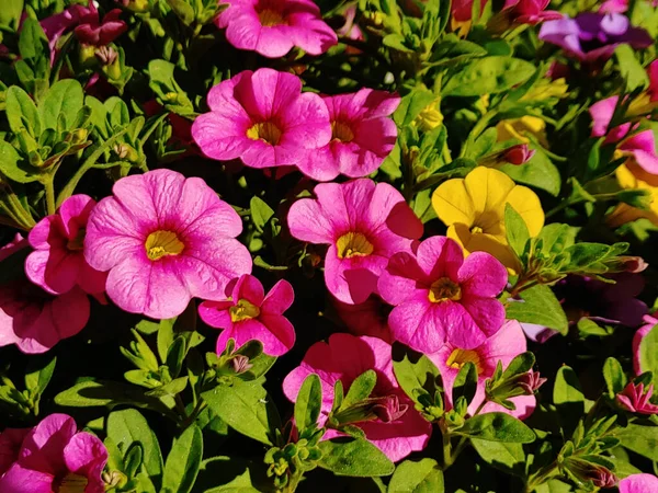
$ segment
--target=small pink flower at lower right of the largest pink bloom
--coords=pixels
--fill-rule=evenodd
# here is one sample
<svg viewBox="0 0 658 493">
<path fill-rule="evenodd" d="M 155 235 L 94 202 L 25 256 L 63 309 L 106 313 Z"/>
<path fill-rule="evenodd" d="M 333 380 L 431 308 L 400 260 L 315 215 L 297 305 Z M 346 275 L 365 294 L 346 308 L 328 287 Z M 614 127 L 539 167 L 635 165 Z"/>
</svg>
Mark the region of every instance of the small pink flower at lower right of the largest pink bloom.
<svg viewBox="0 0 658 493">
<path fill-rule="evenodd" d="M 260 280 L 245 274 L 235 284 L 229 300 L 204 301 L 198 313 L 208 325 L 224 329 L 217 340 L 217 354 L 234 339 L 236 346 L 260 341 L 263 353 L 281 356 L 295 344 L 295 329 L 282 314 L 294 299 L 295 293 L 287 280 L 276 283 L 265 296 Z"/>
</svg>

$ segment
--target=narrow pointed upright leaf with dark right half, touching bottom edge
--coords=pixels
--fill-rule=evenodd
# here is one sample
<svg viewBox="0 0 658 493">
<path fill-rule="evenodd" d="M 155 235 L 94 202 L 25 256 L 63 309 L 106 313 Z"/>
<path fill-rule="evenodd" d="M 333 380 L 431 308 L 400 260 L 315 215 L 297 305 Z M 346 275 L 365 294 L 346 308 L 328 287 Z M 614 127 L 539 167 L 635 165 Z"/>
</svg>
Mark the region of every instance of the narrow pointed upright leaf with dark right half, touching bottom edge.
<svg viewBox="0 0 658 493">
<path fill-rule="evenodd" d="M 173 442 L 162 475 L 166 493 L 190 493 L 196 481 L 203 458 L 203 435 L 196 425 L 190 426 Z"/>
</svg>

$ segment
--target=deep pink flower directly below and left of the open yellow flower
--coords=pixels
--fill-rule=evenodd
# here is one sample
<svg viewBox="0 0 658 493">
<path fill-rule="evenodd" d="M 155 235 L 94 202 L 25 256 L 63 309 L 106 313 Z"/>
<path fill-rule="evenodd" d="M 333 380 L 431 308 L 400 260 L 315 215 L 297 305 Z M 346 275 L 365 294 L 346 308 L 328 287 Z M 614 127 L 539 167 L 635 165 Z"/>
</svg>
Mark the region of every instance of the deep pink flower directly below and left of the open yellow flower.
<svg viewBox="0 0 658 493">
<path fill-rule="evenodd" d="M 507 279 L 504 266 L 488 253 L 464 260 L 454 240 L 431 237 L 416 256 L 393 255 L 378 288 L 395 306 L 388 316 L 395 340 L 420 352 L 439 351 L 446 340 L 472 349 L 502 325 L 504 308 L 496 296 Z"/>
</svg>

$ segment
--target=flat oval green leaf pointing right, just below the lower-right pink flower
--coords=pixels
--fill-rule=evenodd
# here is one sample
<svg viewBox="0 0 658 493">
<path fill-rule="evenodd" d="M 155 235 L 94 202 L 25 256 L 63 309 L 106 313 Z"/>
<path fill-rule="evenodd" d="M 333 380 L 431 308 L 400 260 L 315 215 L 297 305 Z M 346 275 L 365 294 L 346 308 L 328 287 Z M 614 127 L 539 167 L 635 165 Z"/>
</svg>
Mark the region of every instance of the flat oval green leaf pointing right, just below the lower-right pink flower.
<svg viewBox="0 0 658 493">
<path fill-rule="evenodd" d="M 455 429 L 457 435 L 488 442 L 530 444 L 535 434 L 521 420 L 506 413 L 486 413 L 470 417 Z"/>
</svg>

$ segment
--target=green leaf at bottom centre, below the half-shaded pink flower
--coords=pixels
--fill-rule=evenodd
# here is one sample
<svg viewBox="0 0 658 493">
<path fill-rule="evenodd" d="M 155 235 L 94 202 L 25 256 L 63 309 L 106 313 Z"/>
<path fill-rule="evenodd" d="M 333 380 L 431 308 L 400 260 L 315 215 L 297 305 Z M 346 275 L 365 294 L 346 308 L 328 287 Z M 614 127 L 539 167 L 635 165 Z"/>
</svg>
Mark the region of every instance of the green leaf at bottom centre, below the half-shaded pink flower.
<svg viewBox="0 0 658 493">
<path fill-rule="evenodd" d="M 364 438 L 332 438 L 318 447 L 322 452 L 318 466 L 337 475 L 370 478 L 389 475 L 395 470 L 384 452 Z"/>
</svg>

